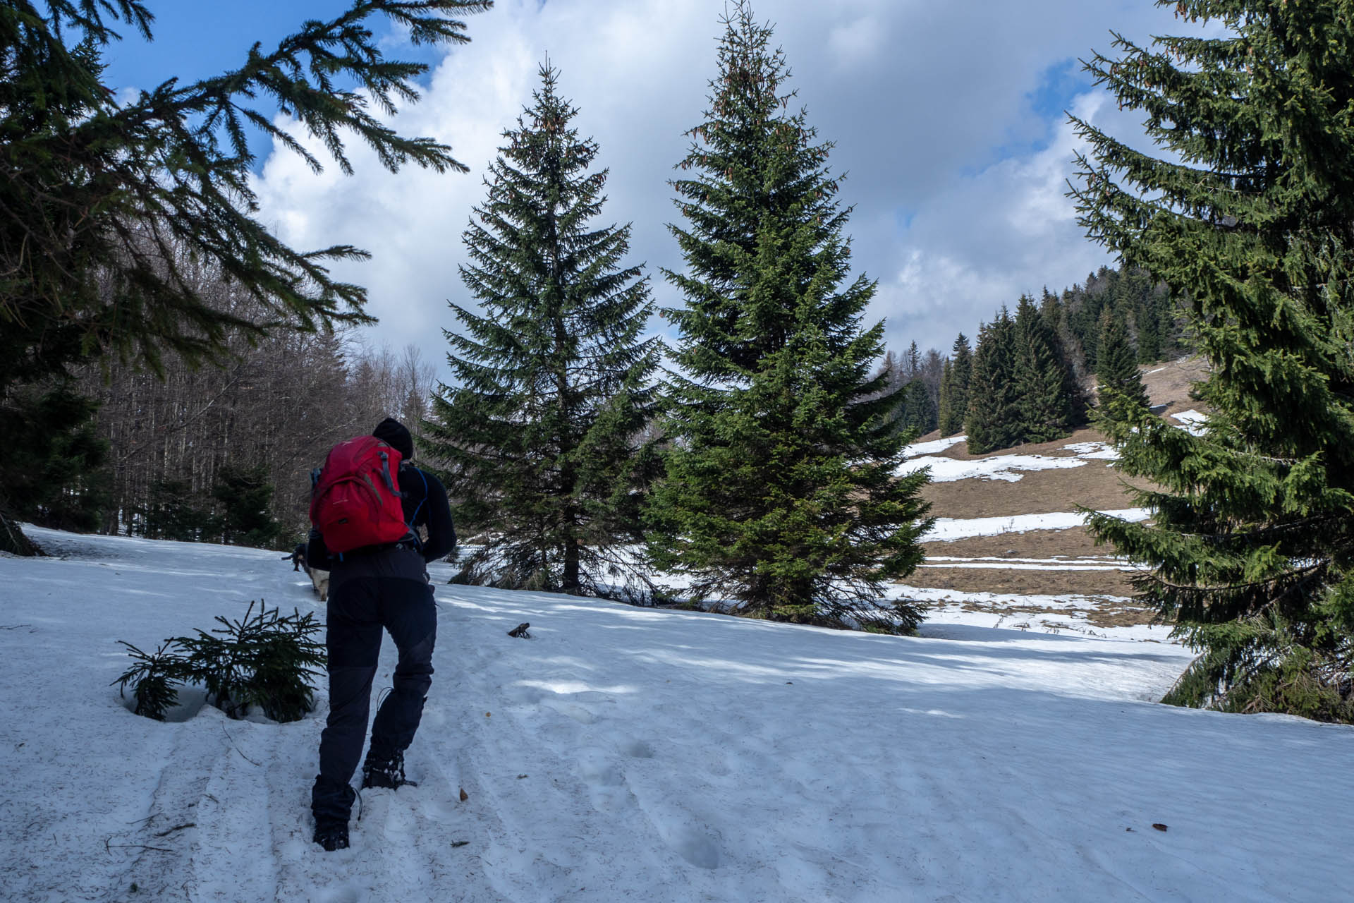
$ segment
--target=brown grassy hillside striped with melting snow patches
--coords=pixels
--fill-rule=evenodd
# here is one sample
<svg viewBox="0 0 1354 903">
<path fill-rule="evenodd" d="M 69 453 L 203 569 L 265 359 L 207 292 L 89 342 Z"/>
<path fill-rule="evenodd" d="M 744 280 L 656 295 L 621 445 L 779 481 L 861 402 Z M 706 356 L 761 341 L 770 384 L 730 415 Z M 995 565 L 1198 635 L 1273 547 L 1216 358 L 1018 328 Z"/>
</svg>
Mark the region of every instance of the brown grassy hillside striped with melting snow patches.
<svg viewBox="0 0 1354 903">
<path fill-rule="evenodd" d="M 1154 410 L 1169 422 L 1189 422 L 1189 412 L 1200 408 L 1189 389 L 1202 375 L 1204 364 L 1197 359 L 1144 367 L 1143 382 Z M 1185 414 L 1185 420 L 1177 414 Z M 955 439 L 940 440 L 932 433 L 913 447 L 914 462 L 932 466 L 934 482 L 925 497 L 937 517 L 1009 519 L 1070 513 L 1078 505 L 1121 510 L 1133 504 L 1125 491 L 1128 481 L 1113 467 L 1113 449 L 1094 429 L 987 455 L 969 455 L 965 444 Z M 960 462 L 968 462 L 968 467 Z M 1152 621 L 1152 612 L 1129 598 L 1133 589 L 1125 562 L 1113 558 L 1110 548 L 1097 548 L 1085 527 L 986 533 L 926 543 L 926 563 L 907 578 L 904 594 L 997 615 L 994 623 L 1034 630 L 1071 625 L 1102 632 Z M 1047 598 L 1051 596 L 1072 597 L 1075 602 L 1068 607 L 1066 598 Z"/>
</svg>

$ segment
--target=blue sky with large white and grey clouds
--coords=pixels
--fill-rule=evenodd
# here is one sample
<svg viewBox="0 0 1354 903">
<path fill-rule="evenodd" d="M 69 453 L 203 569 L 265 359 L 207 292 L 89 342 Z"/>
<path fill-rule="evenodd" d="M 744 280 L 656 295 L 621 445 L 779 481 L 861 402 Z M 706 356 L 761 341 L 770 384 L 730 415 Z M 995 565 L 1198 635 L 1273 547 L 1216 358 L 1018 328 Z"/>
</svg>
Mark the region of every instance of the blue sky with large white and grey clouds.
<svg viewBox="0 0 1354 903">
<path fill-rule="evenodd" d="M 244 58 L 306 18 L 332 18 L 343 0 L 149 0 L 156 41 L 129 35 L 107 57 L 119 88 L 149 88 L 169 76 L 195 79 Z M 723 0 L 498 0 L 470 16 L 471 43 L 412 49 L 435 69 L 424 99 L 397 127 L 450 144 L 468 175 L 385 172 L 351 146 L 357 172 L 311 175 L 290 153 L 257 148 L 261 215 L 301 248 L 353 244 L 372 260 L 338 267 L 366 284 L 372 344 L 420 348 L 440 361 L 448 299 L 473 305 L 460 286 L 460 233 L 483 199 L 482 176 L 500 133 L 536 87 L 548 53 L 561 89 L 580 108 L 577 125 L 601 145 L 611 169 L 605 222 L 634 223 L 634 263 L 654 276 L 659 306 L 680 296 L 658 267 L 681 269 L 668 233 L 668 180 L 682 157 L 682 133 L 700 120 Z M 1090 245 L 1064 198 L 1078 145 L 1063 111 L 1075 110 L 1132 139 L 1136 123 L 1094 89 L 1076 58 L 1110 46 L 1110 30 L 1145 42 L 1179 32 L 1171 9 L 1151 0 L 761 0 L 774 24 L 798 100 L 831 167 L 848 173 L 841 200 L 853 206 L 853 263 L 879 280 L 872 318 L 890 347 L 917 341 L 949 348 L 959 332 L 1022 292 L 1060 290 L 1113 261 Z M 379 31 L 379 30 L 378 30 Z M 321 153 L 322 156 L 322 153 Z"/>
</svg>

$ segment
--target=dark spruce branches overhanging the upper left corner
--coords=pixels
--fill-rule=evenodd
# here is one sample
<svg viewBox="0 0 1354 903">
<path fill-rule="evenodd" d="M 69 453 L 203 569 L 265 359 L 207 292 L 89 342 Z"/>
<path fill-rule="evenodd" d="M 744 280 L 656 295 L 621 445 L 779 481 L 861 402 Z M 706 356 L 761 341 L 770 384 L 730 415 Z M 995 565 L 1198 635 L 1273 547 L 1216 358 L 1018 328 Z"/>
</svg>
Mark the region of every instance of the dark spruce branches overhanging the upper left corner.
<svg viewBox="0 0 1354 903">
<path fill-rule="evenodd" d="M 385 125 L 397 102 L 417 97 L 413 79 L 428 66 L 386 60 L 370 26 L 385 15 L 416 42 L 459 42 L 464 24 L 455 16 L 486 7 L 355 0 L 276 49 L 253 47 L 232 72 L 171 79 L 125 100 L 103 83 L 99 56 L 123 23 L 150 37 L 141 0 L 0 4 L 0 401 L 104 355 L 158 371 L 165 352 L 223 361 L 232 332 L 257 338 L 370 322 L 366 291 L 328 269 L 364 252 L 297 250 L 256 219 L 246 129 L 317 171 L 320 160 L 279 110 L 345 172 L 344 131 L 390 169 L 463 169 L 450 148 Z M 255 313 L 209 303 L 196 279 L 203 269 Z"/>
</svg>

